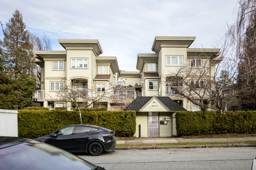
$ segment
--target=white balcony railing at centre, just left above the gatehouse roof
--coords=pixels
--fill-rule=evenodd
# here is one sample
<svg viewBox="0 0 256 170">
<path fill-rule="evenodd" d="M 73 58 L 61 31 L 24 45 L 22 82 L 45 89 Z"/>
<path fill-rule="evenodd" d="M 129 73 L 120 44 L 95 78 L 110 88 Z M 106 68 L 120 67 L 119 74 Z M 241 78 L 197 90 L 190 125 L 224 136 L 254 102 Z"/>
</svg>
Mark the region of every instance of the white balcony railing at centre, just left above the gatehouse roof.
<svg viewBox="0 0 256 170">
<path fill-rule="evenodd" d="M 110 99 L 136 99 L 135 90 L 113 90 L 109 95 Z"/>
</svg>

